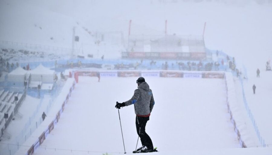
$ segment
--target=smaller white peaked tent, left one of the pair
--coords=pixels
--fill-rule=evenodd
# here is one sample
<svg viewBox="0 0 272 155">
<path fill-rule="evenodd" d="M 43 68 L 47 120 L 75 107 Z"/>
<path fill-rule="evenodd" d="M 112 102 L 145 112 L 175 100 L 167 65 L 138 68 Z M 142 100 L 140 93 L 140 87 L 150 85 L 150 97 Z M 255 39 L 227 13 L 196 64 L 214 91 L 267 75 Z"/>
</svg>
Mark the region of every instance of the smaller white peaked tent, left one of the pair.
<svg viewBox="0 0 272 155">
<path fill-rule="evenodd" d="M 8 73 L 8 82 L 24 82 L 27 70 L 17 67 L 12 72 Z"/>
</svg>

